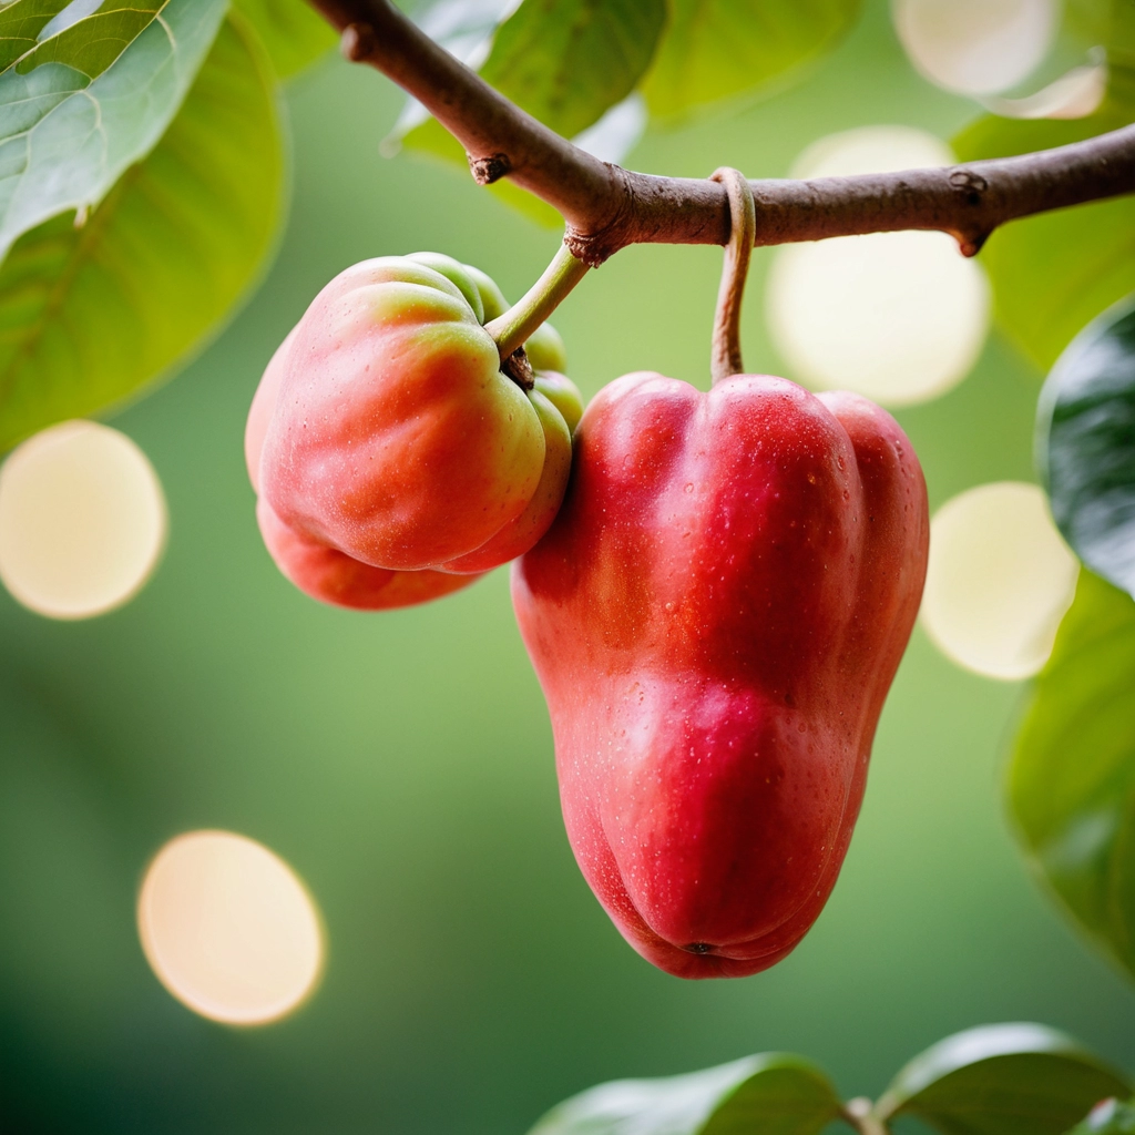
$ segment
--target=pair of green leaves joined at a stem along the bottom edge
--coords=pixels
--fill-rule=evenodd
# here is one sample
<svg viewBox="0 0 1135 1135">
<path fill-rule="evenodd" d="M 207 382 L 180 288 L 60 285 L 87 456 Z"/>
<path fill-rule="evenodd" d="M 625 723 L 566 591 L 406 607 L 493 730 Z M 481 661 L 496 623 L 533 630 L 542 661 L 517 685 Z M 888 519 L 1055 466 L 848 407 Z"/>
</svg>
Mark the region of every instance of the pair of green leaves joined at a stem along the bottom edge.
<svg viewBox="0 0 1135 1135">
<path fill-rule="evenodd" d="M 906 1116 L 942 1135 L 1063 1135 L 1101 1100 L 1129 1092 L 1121 1073 L 1056 1029 L 989 1025 L 915 1057 L 874 1104 L 843 1102 L 804 1057 L 766 1052 L 684 1076 L 602 1084 L 554 1108 L 530 1135 L 819 1135 L 839 1120 L 873 1135 Z M 1128 1129 L 1076 1127 L 1076 1135 Z"/>
</svg>

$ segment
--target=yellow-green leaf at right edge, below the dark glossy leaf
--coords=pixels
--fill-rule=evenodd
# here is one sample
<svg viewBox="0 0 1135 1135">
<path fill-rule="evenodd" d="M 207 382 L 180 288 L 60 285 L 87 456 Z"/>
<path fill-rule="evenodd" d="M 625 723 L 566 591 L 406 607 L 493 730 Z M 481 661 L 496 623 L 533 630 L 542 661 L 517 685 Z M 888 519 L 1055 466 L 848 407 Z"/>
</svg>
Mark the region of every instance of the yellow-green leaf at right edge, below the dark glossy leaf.
<svg viewBox="0 0 1135 1135">
<path fill-rule="evenodd" d="M 1133 690 L 1135 603 L 1083 570 L 1014 745 L 1009 809 L 1034 868 L 1135 975 Z"/>
</svg>

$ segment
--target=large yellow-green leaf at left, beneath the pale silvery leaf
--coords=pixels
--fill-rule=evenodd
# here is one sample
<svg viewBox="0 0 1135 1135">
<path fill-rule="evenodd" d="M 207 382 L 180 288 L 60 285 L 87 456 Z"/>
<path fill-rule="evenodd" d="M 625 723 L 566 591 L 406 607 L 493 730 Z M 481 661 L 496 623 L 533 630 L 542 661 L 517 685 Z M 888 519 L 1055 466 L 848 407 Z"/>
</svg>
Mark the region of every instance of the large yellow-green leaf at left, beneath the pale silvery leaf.
<svg viewBox="0 0 1135 1135">
<path fill-rule="evenodd" d="M 25 234 L 0 268 L 0 448 L 168 372 L 261 271 L 283 212 L 276 83 L 221 26 L 165 137 L 85 226 Z"/>
</svg>

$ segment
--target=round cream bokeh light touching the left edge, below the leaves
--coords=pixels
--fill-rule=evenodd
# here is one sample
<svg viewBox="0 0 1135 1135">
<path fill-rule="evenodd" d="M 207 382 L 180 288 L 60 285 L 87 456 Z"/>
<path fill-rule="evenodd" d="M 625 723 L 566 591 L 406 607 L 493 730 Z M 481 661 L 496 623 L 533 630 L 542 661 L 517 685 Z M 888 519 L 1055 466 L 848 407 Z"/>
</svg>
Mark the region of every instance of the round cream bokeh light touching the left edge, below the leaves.
<svg viewBox="0 0 1135 1135">
<path fill-rule="evenodd" d="M 161 482 L 116 429 L 68 421 L 0 469 L 0 579 L 25 607 L 86 619 L 131 599 L 166 543 Z"/>
</svg>

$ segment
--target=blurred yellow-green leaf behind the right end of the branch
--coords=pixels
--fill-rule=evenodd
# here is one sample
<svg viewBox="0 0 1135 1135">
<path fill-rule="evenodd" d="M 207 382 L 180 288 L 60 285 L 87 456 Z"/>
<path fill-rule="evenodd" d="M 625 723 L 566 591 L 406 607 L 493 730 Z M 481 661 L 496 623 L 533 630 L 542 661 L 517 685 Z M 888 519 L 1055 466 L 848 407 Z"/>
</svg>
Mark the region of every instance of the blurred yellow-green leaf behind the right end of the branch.
<svg viewBox="0 0 1135 1135">
<path fill-rule="evenodd" d="M 1048 150 L 1135 121 L 1135 72 L 1113 61 L 1100 109 L 1073 120 L 980 118 L 953 140 L 959 161 Z M 1039 213 L 982 251 L 1002 330 L 1048 370 L 1100 312 L 1135 291 L 1135 196 Z"/>
</svg>

